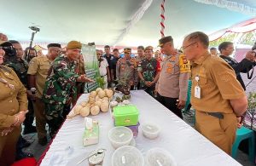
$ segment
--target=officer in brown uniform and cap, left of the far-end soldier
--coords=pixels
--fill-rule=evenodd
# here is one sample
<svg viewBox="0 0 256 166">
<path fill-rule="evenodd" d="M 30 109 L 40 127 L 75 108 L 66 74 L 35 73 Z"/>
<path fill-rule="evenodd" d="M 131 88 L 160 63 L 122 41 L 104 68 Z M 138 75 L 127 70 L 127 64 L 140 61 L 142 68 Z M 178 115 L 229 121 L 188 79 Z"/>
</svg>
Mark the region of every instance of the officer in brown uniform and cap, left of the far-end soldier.
<svg viewBox="0 0 256 166">
<path fill-rule="evenodd" d="M 125 57 L 120 58 L 116 64 L 116 77 L 123 85 L 128 85 L 131 90 L 137 85 L 137 62 L 131 58 L 131 49 L 124 49 Z"/>
</svg>

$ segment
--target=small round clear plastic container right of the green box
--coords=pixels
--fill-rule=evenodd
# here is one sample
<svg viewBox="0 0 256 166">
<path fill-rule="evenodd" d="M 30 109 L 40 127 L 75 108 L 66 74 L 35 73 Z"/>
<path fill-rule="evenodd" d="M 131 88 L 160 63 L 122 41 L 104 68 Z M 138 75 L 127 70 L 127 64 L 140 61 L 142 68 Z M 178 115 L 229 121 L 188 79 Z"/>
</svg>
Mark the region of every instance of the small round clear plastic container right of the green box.
<svg viewBox="0 0 256 166">
<path fill-rule="evenodd" d="M 160 134 L 160 127 L 154 123 L 142 124 L 143 135 L 148 139 L 155 139 Z"/>
</svg>

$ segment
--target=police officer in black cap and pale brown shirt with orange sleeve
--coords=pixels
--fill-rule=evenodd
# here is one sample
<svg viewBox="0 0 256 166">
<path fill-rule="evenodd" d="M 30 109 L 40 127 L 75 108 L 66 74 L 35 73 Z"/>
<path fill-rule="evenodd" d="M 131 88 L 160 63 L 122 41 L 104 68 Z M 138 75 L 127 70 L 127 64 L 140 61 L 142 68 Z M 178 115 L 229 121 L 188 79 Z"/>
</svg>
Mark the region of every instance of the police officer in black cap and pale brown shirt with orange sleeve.
<svg viewBox="0 0 256 166">
<path fill-rule="evenodd" d="M 181 109 L 185 105 L 190 76 L 189 61 L 174 49 L 171 36 L 159 40 L 160 48 L 166 54 L 161 63 L 161 71 L 156 84 L 157 100 L 178 117 L 183 118 Z"/>
</svg>

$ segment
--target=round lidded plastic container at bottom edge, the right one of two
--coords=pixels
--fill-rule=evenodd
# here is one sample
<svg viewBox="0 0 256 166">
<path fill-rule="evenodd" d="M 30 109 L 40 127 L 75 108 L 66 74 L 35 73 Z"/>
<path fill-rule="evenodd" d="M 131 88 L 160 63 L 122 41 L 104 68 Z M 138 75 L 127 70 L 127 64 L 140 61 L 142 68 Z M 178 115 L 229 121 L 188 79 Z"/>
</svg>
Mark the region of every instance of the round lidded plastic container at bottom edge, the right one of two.
<svg viewBox="0 0 256 166">
<path fill-rule="evenodd" d="M 177 166 L 174 157 L 161 148 L 150 149 L 146 154 L 145 163 L 147 166 Z"/>
</svg>

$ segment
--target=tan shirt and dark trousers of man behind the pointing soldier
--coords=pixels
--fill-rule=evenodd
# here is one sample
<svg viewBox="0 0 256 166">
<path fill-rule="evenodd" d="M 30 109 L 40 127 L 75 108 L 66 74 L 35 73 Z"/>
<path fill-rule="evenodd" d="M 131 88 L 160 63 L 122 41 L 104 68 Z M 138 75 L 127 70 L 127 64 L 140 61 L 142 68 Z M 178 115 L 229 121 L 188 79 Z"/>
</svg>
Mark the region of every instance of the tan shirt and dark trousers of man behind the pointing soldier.
<svg viewBox="0 0 256 166">
<path fill-rule="evenodd" d="M 46 119 L 44 116 L 44 102 L 42 100 L 44 85 L 48 75 L 49 66 L 51 61 L 47 56 L 38 56 L 33 58 L 28 66 L 27 74 L 36 76 L 36 96 L 38 100 L 33 102 L 36 116 L 36 127 L 38 131 L 38 139 L 46 137 L 47 131 L 45 130 Z"/>
</svg>

